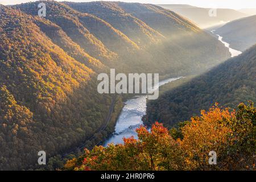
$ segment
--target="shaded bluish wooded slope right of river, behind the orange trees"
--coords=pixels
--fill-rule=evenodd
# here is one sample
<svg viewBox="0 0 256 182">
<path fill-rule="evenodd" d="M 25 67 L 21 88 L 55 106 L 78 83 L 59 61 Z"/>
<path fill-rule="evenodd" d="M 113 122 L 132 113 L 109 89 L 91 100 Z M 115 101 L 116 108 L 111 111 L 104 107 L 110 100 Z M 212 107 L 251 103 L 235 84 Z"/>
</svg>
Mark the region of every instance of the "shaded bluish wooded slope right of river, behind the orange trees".
<svg viewBox="0 0 256 182">
<path fill-rule="evenodd" d="M 188 120 L 200 110 L 218 102 L 236 107 L 240 102 L 256 101 L 256 46 L 229 59 L 211 71 L 164 93 L 147 104 L 144 121 L 159 121 L 167 127 Z"/>
</svg>

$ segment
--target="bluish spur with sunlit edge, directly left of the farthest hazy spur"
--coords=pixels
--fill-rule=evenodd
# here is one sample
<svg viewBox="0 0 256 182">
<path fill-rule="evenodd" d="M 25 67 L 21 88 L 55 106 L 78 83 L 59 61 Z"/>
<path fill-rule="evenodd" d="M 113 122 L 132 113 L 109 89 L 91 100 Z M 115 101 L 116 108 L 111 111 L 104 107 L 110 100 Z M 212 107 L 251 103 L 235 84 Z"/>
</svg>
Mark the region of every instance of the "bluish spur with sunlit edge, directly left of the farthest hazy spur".
<svg viewBox="0 0 256 182">
<path fill-rule="evenodd" d="M 64 3 L 77 11 L 93 14 L 106 20 L 139 46 L 145 46 L 145 43 L 157 43 L 163 38 L 163 35 L 159 32 L 149 27 L 142 20 L 126 13 L 113 2 Z"/>
</svg>

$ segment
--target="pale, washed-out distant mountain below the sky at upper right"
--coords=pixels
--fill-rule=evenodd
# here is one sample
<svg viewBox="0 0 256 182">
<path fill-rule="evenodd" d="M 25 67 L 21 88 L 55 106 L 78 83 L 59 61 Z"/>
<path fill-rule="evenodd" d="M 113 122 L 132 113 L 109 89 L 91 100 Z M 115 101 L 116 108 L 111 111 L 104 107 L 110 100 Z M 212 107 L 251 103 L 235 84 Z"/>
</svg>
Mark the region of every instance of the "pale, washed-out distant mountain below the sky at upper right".
<svg viewBox="0 0 256 182">
<path fill-rule="evenodd" d="M 210 16 L 211 9 L 195 7 L 190 5 L 158 5 L 170 9 L 195 22 L 201 28 L 220 26 L 235 19 L 249 16 L 240 11 L 232 9 L 216 9 L 216 16 Z M 212 14 L 214 15 L 214 14 Z"/>
</svg>

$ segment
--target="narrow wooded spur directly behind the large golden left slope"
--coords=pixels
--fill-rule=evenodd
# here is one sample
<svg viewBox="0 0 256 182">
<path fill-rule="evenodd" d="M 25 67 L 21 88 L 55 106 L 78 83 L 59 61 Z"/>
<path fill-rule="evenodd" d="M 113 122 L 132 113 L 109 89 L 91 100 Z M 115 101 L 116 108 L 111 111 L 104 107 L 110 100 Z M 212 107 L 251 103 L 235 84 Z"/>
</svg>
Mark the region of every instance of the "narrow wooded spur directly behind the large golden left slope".
<svg viewBox="0 0 256 182">
<path fill-rule="evenodd" d="M 32 3 L 23 3 L 14 7 L 24 11 L 24 13 L 34 16 L 38 15 L 38 3 L 43 2 L 47 6 L 46 18 L 57 24 L 62 30 L 79 46 L 81 46 L 89 55 L 100 60 L 114 59 L 115 53 L 110 51 L 100 40 L 91 34 L 85 26 L 82 25 L 76 11 L 70 9 L 63 3 L 51 1 L 39 1 Z M 82 15 L 81 15 L 82 16 Z"/>
</svg>

